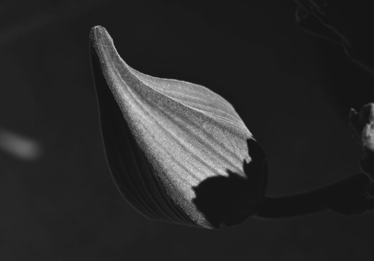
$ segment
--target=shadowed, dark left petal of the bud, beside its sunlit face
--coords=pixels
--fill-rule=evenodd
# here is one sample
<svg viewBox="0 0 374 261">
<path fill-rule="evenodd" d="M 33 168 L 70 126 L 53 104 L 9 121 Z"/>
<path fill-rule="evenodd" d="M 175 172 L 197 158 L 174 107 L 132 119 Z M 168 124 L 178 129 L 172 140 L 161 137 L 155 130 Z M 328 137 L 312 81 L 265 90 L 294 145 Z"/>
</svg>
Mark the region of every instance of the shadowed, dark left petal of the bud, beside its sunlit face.
<svg viewBox="0 0 374 261">
<path fill-rule="evenodd" d="M 91 62 L 99 104 L 101 133 L 108 165 L 119 191 L 135 209 L 151 219 L 194 225 L 185 213 L 175 209 L 159 182 L 154 180 L 151 166 L 133 139 L 129 126 L 103 77 L 105 71 L 100 68 L 98 54 L 94 52 L 93 43 Z"/>
</svg>

